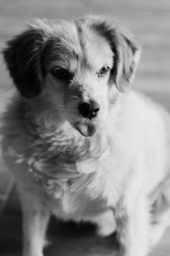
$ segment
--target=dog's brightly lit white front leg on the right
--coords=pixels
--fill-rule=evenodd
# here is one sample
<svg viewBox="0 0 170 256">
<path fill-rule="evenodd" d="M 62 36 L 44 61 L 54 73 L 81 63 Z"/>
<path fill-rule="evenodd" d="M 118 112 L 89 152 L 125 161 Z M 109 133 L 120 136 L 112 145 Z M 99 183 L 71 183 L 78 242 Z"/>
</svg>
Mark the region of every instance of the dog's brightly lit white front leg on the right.
<svg viewBox="0 0 170 256">
<path fill-rule="evenodd" d="M 146 256 L 149 252 L 149 209 L 145 195 L 119 202 L 116 214 L 121 256 Z"/>
</svg>

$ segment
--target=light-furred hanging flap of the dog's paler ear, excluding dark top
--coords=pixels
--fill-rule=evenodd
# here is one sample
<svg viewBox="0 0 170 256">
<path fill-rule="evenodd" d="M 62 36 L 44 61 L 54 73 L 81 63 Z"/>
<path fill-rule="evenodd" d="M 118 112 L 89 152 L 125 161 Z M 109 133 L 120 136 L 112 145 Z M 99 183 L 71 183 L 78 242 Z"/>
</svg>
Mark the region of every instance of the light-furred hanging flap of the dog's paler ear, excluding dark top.
<svg viewBox="0 0 170 256">
<path fill-rule="evenodd" d="M 111 47 L 115 56 L 111 73 L 118 90 L 124 92 L 134 80 L 141 47 L 133 35 L 119 27 L 112 30 Z"/>
</svg>

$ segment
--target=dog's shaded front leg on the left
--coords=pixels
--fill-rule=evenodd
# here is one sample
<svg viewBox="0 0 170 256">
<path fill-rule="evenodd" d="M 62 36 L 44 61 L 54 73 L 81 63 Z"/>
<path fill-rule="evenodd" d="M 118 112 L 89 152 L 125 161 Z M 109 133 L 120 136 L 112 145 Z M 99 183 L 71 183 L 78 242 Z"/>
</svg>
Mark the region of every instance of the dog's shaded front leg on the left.
<svg viewBox="0 0 170 256">
<path fill-rule="evenodd" d="M 22 256 L 43 256 L 50 209 L 46 202 L 42 202 L 32 192 L 30 189 L 19 187 L 22 206 Z"/>
</svg>

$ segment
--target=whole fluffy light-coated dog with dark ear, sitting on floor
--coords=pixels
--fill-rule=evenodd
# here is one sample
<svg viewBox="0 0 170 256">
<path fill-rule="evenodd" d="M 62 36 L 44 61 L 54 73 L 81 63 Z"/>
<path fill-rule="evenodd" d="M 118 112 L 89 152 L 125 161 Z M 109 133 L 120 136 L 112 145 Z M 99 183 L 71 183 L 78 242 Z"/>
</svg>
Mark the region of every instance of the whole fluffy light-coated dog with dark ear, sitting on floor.
<svg viewBox="0 0 170 256">
<path fill-rule="evenodd" d="M 23 256 L 50 218 L 117 232 L 146 256 L 170 226 L 170 115 L 131 88 L 141 47 L 118 22 L 35 19 L 3 50 L 17 88 L 1 118 L 23 213 Z"/>
</svg>

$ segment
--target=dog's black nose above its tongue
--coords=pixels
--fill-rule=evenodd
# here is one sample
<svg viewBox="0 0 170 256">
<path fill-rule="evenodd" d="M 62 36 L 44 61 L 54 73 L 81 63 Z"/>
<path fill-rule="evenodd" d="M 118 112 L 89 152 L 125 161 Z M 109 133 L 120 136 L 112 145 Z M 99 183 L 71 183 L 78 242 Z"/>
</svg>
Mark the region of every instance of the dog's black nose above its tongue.
<svg viewBox="0 0 170 256">
<path fill-rule="evenodd" d="M 84 117 L 92 118 L 97 115 L 97 112 L 100 110 L 100 105 L 96 102 L 84 102 L 80 104 L 78 108 Z"/>
</svg>

